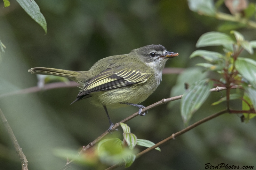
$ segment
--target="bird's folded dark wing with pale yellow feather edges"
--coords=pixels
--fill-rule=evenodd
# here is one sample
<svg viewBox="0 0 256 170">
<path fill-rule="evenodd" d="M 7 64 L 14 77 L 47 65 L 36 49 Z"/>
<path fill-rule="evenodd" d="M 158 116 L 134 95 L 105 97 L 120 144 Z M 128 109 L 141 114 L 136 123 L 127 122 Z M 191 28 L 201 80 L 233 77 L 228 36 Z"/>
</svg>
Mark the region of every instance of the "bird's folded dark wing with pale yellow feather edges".
<svg viewBox="0 0 256 170">
<path fill-rule="evenodd" d="M 151 76 L 150 72 L 141 70 L 118 70 L 108 68 L 92 78 L 77 97 L 100 92 L 110 89 L 116 89 L 133 84 L 145 83 Z"/>
</svg>

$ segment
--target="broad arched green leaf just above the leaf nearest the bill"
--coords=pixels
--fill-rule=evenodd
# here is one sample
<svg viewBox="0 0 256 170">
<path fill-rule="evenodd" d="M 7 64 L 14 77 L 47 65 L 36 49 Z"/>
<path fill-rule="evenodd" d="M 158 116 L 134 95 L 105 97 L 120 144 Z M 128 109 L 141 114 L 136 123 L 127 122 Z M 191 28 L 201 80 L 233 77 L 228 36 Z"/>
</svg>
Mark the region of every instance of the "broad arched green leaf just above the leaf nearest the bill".
<svg viewBox="0 0 256 170">
<path fill-rule="evenodd" d="M 208 32 L 201 35 L 196 43 L 196 47 L 218 46 L 234 43 L 235 42 L 232 40 L 232 38 L 225 33 Z"/>
</svg>

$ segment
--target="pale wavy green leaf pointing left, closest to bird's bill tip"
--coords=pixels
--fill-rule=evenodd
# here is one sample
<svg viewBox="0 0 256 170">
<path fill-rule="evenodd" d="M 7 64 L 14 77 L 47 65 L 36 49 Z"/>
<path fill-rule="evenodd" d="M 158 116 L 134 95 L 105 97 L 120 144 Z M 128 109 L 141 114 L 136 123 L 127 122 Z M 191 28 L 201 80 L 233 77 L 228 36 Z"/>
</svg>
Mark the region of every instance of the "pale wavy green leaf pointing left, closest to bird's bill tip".
<svg viewBox="0 0 256 170">
<path fill-rule="evenodd" d="M 203 57 L 205 60 L 209 62 L 216 62 L 223 58 L 223 55 L 220 53 L 206 50 L 196 50 L 189 56 L 189 58 L 193 58 L 195 56 Z"/>
</svg>

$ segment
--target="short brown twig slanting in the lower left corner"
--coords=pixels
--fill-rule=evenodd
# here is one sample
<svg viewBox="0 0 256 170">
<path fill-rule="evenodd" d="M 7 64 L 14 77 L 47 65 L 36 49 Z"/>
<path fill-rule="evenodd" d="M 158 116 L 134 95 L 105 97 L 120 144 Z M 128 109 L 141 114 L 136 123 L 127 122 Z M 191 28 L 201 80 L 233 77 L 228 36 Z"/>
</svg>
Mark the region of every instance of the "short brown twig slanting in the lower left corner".
<svg viewBox="0 0 256 170">
<path fill-rule="evenodd" d="M 4 128 L 7 131 L 8 135 L 10 136 L 11 140 L 12 140 L 12 144 L 16 150 L 16 152 L 18 153 L 20 160 L 21 160 L 21 169 L 22 170 L 28 170 L 28 160 L 26 159 L 26 156 L 24 155 L 24 153 L 22 152 L 20 145 L 16 139 L 16 137 L 14 136 L 14 133 L 9 125 L 9 123 L 7 122 L 1 108 L 0 108 L 0 118 L 1 121 L 4 124 Z"/>
</svg>

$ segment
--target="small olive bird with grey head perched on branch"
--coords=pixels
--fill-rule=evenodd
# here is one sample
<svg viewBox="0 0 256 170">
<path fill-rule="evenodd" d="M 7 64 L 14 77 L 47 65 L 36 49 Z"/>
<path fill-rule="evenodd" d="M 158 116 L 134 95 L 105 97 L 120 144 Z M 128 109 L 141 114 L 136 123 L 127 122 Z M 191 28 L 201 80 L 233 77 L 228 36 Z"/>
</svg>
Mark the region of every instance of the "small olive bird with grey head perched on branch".
<svg viewBox="0 0 256 170">
<path fill-rule="evenodd" d="M 69 71 L 36 67 L 28 70 L 32 74 L 46 74 L 66 77 L 81 85 L 76 100 L 72 103 L 90 98 L 91 103 L 103 106 L 108 116 L 112 131 L 114 124 L 111 122 L 107 107 L 119 107 L 127 104 L 142 108 L 138 103 L 146 100 L 162 80 L 162 71 L 168 58 L 179 55 L 166 51 L 162 45 L 147 45 L 133 49 L 129 54 L 114 55 L 96 62 L 88 71 Z M 72 104 L 71 103 L 71 104 Z"/>
</svg>

